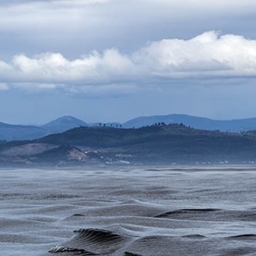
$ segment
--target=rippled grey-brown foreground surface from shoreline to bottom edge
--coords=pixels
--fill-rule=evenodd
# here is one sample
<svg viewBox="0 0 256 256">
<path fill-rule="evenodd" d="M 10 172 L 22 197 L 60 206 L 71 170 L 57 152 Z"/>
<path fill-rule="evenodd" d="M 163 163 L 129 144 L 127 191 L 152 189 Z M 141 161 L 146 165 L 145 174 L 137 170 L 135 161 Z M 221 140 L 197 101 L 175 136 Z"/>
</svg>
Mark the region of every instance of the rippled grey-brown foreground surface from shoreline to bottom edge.
<svg viewBox="0 0 256 256">
<path fill-rule="evenodd" d="M 0 170 L 1 255 L 256 255 L 255 174 Z"/>
</svg>

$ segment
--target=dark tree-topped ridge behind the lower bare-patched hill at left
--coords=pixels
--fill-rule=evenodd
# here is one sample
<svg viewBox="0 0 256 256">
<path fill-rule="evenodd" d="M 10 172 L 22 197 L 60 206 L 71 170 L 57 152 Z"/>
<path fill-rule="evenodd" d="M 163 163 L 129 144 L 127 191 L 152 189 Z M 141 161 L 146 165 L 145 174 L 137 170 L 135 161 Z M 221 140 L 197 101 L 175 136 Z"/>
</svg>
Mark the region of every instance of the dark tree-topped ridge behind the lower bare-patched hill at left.
<svg viewBox="0 0 256 256">
<path fill-rule="evenodd" d="M 44 137 L 38 142 L 106 148 L 108 155 L 131 154 L 136 162 L 147 163 L 256 160 L 253 137 L 196 130 L 185 125 L 154 125 L 139 129 L 79 127 Z"/>
</svg>

